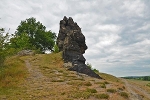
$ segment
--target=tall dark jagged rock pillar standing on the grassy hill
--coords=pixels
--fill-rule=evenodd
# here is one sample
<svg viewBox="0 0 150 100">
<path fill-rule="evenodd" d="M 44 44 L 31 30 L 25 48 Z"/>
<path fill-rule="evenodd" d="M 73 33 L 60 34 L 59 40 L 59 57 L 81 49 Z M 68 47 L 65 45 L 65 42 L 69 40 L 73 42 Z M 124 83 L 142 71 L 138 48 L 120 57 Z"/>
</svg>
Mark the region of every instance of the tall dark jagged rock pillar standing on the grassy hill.
<svg viewBox="0 0 150 100">
<path fill-rule="evenodd" d="M 66 16 L 60 21 L 60 30 L 57 38 L 57 45 L 60 51 L 63 51 L 65 63 L 72 63 L 69 70 L 84 73 L 95 78 L 101 78 L 94 73 L 85 64 L 86 59 L 83 54 L 87 49 L 85 37 L 81 28 L 73 21 L 71 17 Z"/>
</svg>

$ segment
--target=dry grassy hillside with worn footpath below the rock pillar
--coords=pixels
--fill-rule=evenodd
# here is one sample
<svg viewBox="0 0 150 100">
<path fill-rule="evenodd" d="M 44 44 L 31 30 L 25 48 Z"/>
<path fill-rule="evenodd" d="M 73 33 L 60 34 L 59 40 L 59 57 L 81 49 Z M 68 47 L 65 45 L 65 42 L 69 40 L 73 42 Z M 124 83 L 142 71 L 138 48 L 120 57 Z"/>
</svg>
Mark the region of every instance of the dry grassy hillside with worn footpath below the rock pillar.
<svg viewBox="0 0 150 100">
<path fill-rule="evenodd" d="M 0 99 L 126 100 L 124 83 L 105 73 L 103 79 L 68 71 L 61 53 L 14 56 L 0 69 Z M 117 98 L 117 99 L 116 99 Z"/>
</svg>

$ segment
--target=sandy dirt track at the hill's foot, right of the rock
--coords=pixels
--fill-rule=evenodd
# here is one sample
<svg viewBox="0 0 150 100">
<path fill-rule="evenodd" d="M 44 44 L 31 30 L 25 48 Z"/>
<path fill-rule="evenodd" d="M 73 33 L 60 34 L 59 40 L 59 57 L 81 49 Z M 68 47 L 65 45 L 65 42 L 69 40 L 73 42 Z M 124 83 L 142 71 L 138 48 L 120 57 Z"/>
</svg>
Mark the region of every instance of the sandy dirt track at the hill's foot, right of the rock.
<svg viewBox="0 0 150 100">
<path fill-rule="evenodd" d="M 150 99 L 150 94 L 137 85 L 130 84 L 127 80 L 123 79 L 127 91 L 130 93 L 130 100 L 144 100 L 142 96 Z"/>
</svg>

